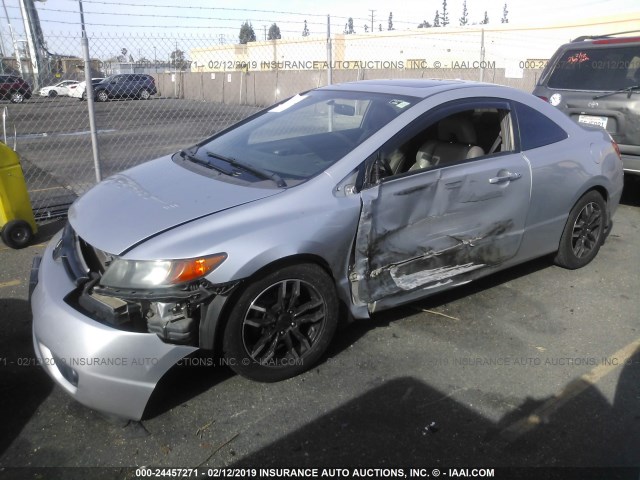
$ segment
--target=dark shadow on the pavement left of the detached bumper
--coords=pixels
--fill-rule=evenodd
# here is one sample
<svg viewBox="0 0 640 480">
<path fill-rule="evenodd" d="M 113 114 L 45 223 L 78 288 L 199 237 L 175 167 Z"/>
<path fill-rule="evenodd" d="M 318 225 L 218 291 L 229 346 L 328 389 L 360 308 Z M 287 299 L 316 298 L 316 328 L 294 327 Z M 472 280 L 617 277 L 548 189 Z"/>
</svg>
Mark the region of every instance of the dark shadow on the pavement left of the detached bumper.
<svg viewBox="0 0 640 480">
<path fill-rule="evenodd" d="M 53 382 L 34 357 L 31 310 L 20 299 L 0 298 L 0 455 L 53 390 Z"/>
</svg>

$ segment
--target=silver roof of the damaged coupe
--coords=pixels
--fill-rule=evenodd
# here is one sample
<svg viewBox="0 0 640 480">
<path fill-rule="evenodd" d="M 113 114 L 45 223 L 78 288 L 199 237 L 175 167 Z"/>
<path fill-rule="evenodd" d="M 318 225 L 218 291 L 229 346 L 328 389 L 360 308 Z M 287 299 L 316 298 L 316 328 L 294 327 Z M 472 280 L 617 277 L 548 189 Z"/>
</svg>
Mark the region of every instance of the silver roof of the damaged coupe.
<svg viewBox="0 0 640 480">
<path fill-rule="evenodd" d="M 390 93 L 411 97 L 427 98 L 436 93 L 470 87 L 498 87 L 490 83 L 466 80 L 441 79 L 388 79 L 360 80 L 357 82 L 339 83 L 321 87 L 320 90 L 345 90 L 371 93 Z M 504 87 L 507 88 L 507 87 Z"/>
</svg>

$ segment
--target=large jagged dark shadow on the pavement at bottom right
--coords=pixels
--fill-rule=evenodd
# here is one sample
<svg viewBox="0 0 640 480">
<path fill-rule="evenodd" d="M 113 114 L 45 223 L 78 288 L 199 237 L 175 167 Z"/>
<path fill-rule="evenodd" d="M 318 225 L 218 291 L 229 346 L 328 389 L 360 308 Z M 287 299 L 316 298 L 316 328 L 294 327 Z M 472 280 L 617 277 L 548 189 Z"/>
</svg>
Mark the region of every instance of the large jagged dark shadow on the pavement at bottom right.
<svg viewBox="0 0 640 480">
<path fill-rule="evenodd" d="M 564 403 L 553 396 L 527 399 L 497 422 L 468 402 L 413 377 L 395 378 L 243 457 L 233 467 L 411 467 L 445 472 L 450 468 L 637 467 L 640 352 L 623 368 L 613 404 L 596 385 L 587 384 Z M 491 385 L 473 393 L 476 398 L 495 395 Z M 550 408 L 554 402 L 557 408 Z M 532 415 L 540 421 L 530 422 Z M 521 478 L 515 473 L 509 478 Z M 631 478 L 602 471 L 594 472 L 595 477 L 588 471 L 580 471 L 579 477 L 559 477 L 560 473 L 535 471 L 522 478 Z"/>
</svg>

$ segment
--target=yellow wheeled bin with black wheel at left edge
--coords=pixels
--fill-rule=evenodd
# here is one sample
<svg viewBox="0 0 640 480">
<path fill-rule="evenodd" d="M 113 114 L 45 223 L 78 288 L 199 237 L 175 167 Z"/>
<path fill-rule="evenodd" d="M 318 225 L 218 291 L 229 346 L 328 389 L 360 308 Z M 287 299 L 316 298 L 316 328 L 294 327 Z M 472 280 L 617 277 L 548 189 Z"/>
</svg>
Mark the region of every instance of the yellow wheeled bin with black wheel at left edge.
<svg viewBox="0 0 640 480">
<path fill-rule="evenodd" d="M 18 154 L 0 142 L 0 228 L 11 248 L 26 247 L 38 231 Z"/>
</svg>

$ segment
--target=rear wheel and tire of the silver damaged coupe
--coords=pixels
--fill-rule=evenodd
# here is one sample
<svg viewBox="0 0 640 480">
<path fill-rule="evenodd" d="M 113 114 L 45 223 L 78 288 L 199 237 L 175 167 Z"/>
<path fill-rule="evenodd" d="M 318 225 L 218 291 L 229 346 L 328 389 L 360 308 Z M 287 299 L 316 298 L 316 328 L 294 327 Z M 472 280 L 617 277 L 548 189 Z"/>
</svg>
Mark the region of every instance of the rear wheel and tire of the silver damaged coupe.
<svg viewBox="0 0 640 480">
<path fill-rule="evenodd" d="M 556 265 L 574 270 L 595 258 L 604 242 L 607 209 L 602 195 L 591 191 L 573 206 L 560 237 Z"/>
</svg>

